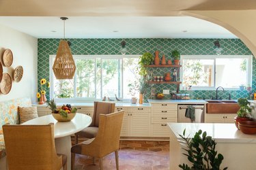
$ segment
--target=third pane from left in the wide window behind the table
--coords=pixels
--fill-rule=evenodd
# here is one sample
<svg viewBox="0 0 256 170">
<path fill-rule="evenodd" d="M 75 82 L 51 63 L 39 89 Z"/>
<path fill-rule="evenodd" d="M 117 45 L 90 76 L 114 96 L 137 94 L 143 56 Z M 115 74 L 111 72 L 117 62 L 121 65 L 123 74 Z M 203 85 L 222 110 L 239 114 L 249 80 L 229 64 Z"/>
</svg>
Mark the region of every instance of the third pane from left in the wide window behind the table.
<svg viewBox="0 0 256 170">
<path fill-rule="evenodd" d="M 121 72 L 118 59 L 102 59 L 102 95 L 119 97 L 121 94 Z"/>
</svg>

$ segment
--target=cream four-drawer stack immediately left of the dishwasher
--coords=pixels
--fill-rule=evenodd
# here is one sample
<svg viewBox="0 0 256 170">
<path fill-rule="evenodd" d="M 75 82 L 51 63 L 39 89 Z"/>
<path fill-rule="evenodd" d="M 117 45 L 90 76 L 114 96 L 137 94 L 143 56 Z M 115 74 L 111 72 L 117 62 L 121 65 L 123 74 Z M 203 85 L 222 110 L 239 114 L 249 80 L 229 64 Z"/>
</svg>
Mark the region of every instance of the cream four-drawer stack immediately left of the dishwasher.
<svg viewBox="0 0 256 170">
<path fill-rule="evenodd" d="M 151 136 L 169 137 L 167 122 L 177 122 L 177 104 L 157 103 L 152 104 Z"/>
</svg>

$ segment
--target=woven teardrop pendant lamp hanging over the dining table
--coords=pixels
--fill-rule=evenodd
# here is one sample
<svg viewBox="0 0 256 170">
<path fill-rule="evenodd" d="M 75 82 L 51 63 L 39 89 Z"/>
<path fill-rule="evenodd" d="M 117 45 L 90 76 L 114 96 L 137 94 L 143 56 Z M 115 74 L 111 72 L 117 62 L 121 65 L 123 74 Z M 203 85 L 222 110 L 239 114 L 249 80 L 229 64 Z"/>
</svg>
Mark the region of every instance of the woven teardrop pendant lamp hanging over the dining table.
<svg viewBox="0 0 256 170">
<path fill-rule="evenodd" d="M 65 20 L 68 20 L 68 18 L 61 17 L 61 20 L 63 20 L 63 39 L 59 42 L 59 48 L 53 63 L 53 73 L 57 80 L 72 79 L 76 71 L 68 41 L 65 40 Z"/>
</svg>

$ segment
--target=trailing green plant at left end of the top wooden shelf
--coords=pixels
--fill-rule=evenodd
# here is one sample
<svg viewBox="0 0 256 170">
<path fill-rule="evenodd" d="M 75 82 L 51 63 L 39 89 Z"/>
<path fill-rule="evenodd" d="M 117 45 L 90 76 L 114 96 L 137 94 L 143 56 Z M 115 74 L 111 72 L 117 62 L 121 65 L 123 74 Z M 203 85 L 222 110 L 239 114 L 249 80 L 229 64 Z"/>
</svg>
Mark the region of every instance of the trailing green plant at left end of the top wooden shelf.
<svg viewBox="0 0 256 170">
<path fill-rule="evenodd" d="M 145 65 L 150 65 L 154 61 L 154 56 L 150 52 L 145 52 L 142 56 L 139 56 L 139 75 L 147 75 L 147 68 Z"/>
</svg>

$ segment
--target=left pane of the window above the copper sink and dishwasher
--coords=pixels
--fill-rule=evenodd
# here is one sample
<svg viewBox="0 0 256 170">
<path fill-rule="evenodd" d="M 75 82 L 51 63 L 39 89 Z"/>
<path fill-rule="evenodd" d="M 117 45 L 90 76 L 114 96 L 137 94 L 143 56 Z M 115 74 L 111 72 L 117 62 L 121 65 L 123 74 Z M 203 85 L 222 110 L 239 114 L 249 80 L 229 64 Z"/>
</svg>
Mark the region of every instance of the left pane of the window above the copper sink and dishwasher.
<svg viewBox="0 0 256 170">
<path fill-rule="evenodd" d="M 182 86 L 214 86 L 214 60 L 182 60 Z"/>
</svg>

